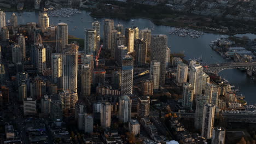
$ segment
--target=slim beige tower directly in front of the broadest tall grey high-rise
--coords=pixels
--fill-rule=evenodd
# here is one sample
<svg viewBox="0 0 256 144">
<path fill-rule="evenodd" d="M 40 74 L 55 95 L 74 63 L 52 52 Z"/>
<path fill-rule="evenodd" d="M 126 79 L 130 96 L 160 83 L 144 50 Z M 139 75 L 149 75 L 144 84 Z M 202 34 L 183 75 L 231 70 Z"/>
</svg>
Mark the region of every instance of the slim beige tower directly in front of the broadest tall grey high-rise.
<svg viewBox="0 0 256 144">
<path fill-rule="evenodd" d="M 153 91 L 158 91 L 160 83 L 160 62 L 151 61 L 149 78 L 153 81 Z"/>
</svg>

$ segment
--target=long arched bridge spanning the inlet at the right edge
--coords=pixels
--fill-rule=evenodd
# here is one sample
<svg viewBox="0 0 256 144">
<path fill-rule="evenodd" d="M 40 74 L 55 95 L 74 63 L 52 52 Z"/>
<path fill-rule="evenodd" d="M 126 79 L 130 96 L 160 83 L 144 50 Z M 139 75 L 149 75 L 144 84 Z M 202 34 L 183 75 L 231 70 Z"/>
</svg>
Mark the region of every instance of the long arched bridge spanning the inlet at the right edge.
<svg viewBox="0 0 256 144">
<path fill-rule="evenodd" d="M 248 75 L 252 75 L 256 71 L 256 62 L 234 62 L 205 65 L 204 69 L 207 73 L 218 74 L 224 69 L 246 69 Z"/>
</svg>

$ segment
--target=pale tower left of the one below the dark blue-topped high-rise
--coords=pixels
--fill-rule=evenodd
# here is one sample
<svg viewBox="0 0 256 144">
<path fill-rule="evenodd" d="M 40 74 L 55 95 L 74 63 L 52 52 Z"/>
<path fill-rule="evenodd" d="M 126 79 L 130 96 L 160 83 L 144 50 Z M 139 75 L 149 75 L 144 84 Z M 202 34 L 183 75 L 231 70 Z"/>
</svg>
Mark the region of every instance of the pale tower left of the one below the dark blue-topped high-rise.
<svg viewBox="0 0 256 144">
<path fill-rule="evenodd" d="M 111 124 L 111 110 L 112 105 L 108 102 L 101 105 L 101 127 L 106 129 L 110 127 Z"/>
</svg>

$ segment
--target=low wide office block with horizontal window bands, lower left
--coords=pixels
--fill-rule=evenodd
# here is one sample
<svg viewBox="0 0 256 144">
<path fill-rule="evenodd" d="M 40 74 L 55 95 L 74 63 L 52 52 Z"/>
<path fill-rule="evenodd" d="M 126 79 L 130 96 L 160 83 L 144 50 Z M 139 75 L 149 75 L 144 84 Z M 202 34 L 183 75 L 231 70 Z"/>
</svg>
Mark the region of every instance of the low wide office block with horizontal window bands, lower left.
<svg viewBox="0 0 256 144">
<path fill-rule="evenodd" d="M 37 100 L 33 98 L 25 98 L 23 100 L 24 115 L 36 115 L 37 114 Z"/>
</svg>

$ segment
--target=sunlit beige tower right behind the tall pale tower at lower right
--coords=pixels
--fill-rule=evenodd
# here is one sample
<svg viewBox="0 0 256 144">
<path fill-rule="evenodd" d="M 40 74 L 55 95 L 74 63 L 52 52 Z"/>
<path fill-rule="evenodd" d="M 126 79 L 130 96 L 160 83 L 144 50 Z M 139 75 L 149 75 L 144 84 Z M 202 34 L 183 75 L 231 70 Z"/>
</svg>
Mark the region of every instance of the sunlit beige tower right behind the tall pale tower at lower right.
<svg viewBox="0 0 256 144">
<path fill-rule="evenodd" d="M 211 103 L 215 106 L 218 105 L 219 90 L 220 88 L 217 85 L 214 85 L 208 82 L 206 83 L 205 95 L 208 96 L 208 103 Z"/>
</svg>

